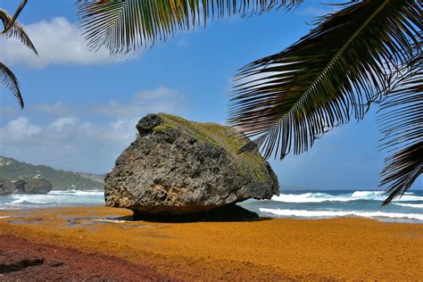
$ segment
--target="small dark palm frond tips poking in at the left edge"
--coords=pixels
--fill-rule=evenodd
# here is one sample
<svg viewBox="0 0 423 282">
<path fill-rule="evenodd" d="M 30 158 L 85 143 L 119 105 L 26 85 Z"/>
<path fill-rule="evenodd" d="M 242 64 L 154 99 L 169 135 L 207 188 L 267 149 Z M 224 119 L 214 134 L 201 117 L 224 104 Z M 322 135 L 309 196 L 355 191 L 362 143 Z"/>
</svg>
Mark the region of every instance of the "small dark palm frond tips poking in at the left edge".
<svg viewBox="0 0 423 282">
<path fill-rule="evenodd" d="M 21 40 L 23 45 L 28 46 L 29 49 L 37 54 L 37 49 L 32 44 L 25 30 L 22 28 L 21 24 L 16 21 L 26 3 L 27 0 L 23 0 L 21 2 L 13 17 L 11 17 L 9 13 L 3 9 L 0 9 L 0 20 L 4 25 L 4 29 L 0 32 L 0 35 L 5 37 L 15 37 Z M 4 87 L 7 87 L 12 92 L 23 109 L 24 103 L 18 79 L 3 62 L 0 62 L 0 82 L 4 85 Z"/>
</svg>

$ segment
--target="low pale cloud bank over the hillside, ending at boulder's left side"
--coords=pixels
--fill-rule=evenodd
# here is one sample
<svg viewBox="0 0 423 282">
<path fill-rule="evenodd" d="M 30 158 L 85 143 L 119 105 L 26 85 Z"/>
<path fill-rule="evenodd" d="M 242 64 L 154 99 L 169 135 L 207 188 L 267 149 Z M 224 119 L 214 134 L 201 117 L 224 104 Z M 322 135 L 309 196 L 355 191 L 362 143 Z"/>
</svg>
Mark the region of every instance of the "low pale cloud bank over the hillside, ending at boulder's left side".
<svg viewBox="0 0 423 282">
<path fill-rule="evenodd" d="M 36 123 L 20 117 L 0 128 L 0 155 L 64 170 L 103 173 L 135 140 L 137 120 L 95 123 L 68 117 Z"/>
</svg>

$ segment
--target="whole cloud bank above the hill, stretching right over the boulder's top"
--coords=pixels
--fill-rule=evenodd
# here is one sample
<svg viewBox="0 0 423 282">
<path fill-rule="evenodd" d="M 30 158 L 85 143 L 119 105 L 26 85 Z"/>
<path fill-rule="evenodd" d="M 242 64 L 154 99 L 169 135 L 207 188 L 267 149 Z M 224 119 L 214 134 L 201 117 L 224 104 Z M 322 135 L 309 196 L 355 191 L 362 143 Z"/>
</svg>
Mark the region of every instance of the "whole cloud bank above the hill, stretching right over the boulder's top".
<svg viewBox="0 0 423 282">
<path fill-rule="evenodd" d="M 3 127 L 0 123 L 0 155 L 65 170 L 104 172 L 135 140 L 137 121 L 146 113 L 181 115 L 186 108 L 185 95 L 168 87 L 139 92 L 128 102 L 93 107 L 38 104 L 16 113 L 25 117 L 6 116 Z M 60 114 L 61 109 L 68 111 Z"/>
</svg>

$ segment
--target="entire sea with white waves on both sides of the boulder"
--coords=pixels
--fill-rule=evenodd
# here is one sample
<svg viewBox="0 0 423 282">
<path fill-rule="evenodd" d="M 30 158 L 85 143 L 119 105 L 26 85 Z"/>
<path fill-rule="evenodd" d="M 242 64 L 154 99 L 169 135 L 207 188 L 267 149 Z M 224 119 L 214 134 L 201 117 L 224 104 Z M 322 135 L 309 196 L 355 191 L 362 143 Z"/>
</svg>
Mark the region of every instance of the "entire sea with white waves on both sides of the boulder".
<svg viewBox="0 0 423 282">
<path fill-rule="evenodd" d="M 382 207 L 381 191 L 283 190 L 271 200 L 248 200 L 239 205 L 273 218 L 326 219 L 360 217 L 382 221 L 423 223 L 423 190 L 406 193 Z M 101 206 L 103 191 L 51 191 L 47 195 L 0 196 L 0 210 L 63 206 Z"/>
</svg>

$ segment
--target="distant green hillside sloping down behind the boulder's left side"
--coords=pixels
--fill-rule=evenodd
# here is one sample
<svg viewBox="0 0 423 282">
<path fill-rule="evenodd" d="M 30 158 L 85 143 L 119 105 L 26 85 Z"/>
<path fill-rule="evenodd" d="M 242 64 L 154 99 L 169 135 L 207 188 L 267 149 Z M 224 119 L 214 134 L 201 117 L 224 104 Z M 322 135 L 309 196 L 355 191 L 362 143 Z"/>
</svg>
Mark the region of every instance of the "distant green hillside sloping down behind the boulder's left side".
<svg viewBox="0 0 423 282">
<path fill-rule="evenodd" d="M 104 188 L 102 175 L 54 170 L 54 168 L 46 165 L 33 165 L 0 156 L 0 178 L 9 181 L 18 179 L 29 181 L 37 175 L 50 181 L 54 189 L 90 190 Z"/>
</svg>

